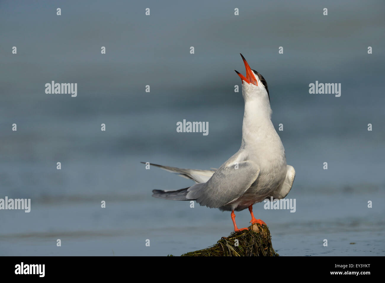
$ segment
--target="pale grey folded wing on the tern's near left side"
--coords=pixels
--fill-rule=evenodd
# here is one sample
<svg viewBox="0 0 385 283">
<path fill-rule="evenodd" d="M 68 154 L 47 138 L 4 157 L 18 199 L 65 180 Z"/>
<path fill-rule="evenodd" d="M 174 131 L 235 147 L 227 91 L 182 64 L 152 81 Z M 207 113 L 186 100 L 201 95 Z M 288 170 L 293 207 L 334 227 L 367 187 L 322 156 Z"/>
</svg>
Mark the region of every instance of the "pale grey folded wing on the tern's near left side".
<svg viewBox="0 0 385 283">
<path fill-rule="evenodd" d="M 202 186 L 187 189 L 187 198 L 209 208 L 219 208 L 239 198 L 258 178 L 260 168 L 253 161 L 223 164 Z"/>
</svg>

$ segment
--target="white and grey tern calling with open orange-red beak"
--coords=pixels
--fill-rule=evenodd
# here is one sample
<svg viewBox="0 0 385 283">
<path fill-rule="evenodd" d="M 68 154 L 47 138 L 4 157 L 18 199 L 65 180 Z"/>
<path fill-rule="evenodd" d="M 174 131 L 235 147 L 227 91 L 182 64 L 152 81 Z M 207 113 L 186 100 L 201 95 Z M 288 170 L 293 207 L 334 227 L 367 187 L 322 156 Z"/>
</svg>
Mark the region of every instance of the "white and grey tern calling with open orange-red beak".
<svg viewBox="0 0 385 283">
<path fill-rule="evenodd" d="M 191 187 L 176 191 L 153 190 L 155 198 L 179 201 L 194 200 L 201 206 L 231 211 L 234 231 L 234 211 L 248 208 L 251 221 L 256 219 L 253 204 L 264 199 L 282 199 L 290 192 L 295 178 L 293 166 L 286 164 L 286 154 L 280 137 L 271 122 L 270 95 L 266 80 L 252 70 L 243 59 L 246 77 L 235 70 L 242 80 L 244 116 L 242 143 L 238 152 L 216 170 L 182 169 L 152 164 L 195 181 Z M 151 164 L 151 163 L 150 163 Z"/>
</svg>

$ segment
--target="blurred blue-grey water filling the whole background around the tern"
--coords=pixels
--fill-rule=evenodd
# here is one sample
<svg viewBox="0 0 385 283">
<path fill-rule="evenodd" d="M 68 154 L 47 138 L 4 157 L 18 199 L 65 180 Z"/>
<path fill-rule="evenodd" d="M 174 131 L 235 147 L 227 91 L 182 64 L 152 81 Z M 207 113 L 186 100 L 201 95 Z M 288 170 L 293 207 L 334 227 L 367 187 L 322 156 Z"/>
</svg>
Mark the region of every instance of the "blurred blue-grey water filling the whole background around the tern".
<svg viewBox="0 0 385 283">
<path fill-rule="evenodd" d="M 152 198 L 192 183 L 140 162 L 218 168 L 239 149 L 239 52 L 269 84 L 296 170 L 295 213 L 254 206 L 273 247 L 385 255 L 383 2 L 328 2 L 327 17 L 306 1 L 237 4 L 239 17 L 230 1 L 149 2 L 149 17 L 119 1 L 68 2 L 60 17 L 52 4 L 18 3 L 0 4 L 0 198 L 31 198 L 32 208 L 0 211 L 0 255 L 181 255 L 228 236 L 229 213 Z M 51 80 L 77 83 L 77 97 L 45 94 Z M 316 80 L 341 83 L 341 97 L 309 94 Z M 183 119 L 207 121 L 208 136 L 177 133 Z M 239 227 L 249 220 L 236 214 Z"/>
</svg>

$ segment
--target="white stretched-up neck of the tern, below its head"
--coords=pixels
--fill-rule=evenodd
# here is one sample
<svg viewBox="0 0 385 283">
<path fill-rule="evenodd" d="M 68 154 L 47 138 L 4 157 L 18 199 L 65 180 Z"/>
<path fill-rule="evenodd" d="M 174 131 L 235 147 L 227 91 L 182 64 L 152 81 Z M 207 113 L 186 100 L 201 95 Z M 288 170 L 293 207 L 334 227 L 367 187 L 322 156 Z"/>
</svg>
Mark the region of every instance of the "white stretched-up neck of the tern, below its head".
<svg viewBox="0 0 385 283">
<path fill-rule="evenodd" d="M 263 136 L 266 136 L 266 131 L 275 131 L 271 122 L 271 112 L 268 100 L 249 99 L 245 101 L 242 125 L 243 146 L 255 144 Z"/>
</svg>

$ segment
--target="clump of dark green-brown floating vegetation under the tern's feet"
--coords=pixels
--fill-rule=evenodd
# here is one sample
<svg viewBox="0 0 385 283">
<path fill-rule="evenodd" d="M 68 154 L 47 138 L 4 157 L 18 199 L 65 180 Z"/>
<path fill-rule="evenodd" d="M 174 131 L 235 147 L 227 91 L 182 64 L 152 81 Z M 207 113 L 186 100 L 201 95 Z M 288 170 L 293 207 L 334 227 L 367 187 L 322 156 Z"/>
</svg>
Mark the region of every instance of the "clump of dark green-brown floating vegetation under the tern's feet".
<svg viewBox="0 0 385 283">
<path fill-rule="evenodd" d="M 204 250 L 191 251 L 182 256 L 279 256 L 271 244 L 266 225 L 253 224 L 248 230 L 231 233 Z"/>
</svg>

